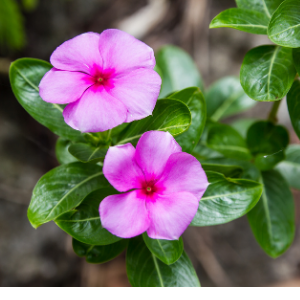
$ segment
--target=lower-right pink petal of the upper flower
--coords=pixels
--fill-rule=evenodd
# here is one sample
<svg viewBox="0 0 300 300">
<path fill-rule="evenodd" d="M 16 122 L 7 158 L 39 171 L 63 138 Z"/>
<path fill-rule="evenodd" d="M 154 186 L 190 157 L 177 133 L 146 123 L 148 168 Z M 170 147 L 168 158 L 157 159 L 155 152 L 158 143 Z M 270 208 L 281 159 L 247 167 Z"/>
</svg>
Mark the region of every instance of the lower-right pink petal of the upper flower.
<svg viewBox="0 0 300 300">
<path fill-rule="evenodd" d="M 161 86 L 161 78 L 155 71 L 138 69 L 113 81 L 114 87 L 109 93 L 127 107 L 126 122 L 152 114 Z"/>
</svg>

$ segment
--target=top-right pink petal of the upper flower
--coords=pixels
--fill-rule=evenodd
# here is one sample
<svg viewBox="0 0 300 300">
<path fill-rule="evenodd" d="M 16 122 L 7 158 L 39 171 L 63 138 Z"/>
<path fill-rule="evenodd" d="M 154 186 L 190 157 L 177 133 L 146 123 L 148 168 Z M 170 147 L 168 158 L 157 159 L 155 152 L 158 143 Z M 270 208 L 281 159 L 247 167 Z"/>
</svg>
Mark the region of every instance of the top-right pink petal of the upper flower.
<svg viewBox="0 0 300 300">
<path fill-rule="evenodd" d="M 116 74 L 138 68 L 153 69 L 155 66 L 152 48 L 118 29 L 108 29 L 101 33 L 99 49 L 103 68 L 114 69 Z"/>
</svg>

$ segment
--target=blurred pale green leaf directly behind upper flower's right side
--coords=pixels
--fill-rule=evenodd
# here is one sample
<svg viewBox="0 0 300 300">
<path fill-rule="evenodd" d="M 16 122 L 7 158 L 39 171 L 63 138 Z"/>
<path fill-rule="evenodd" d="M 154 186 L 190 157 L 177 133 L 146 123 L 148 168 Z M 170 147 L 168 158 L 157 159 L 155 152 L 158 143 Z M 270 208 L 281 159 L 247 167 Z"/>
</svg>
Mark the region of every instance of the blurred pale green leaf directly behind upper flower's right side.
<svg viewBox="0 0 300 300">
<path fill-rule="evenodd" d="M 178 47 L 168 45 L 162 47 L 156 53 L 155 58 L 162 75 L 159 98 L 193 86 L 203 91 L 201 75 L 188 53 Z"/>
</svg>

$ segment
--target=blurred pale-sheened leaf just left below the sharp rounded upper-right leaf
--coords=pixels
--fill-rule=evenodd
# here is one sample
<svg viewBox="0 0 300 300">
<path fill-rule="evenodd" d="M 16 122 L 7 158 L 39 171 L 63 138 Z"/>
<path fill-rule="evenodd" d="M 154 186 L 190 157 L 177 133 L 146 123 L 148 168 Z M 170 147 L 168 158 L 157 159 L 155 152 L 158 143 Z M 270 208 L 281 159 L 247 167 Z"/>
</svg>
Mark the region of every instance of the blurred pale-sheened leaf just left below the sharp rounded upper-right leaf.
<svg viewBox="0 0 300 300">
<path fill-rule="evenodd" d="M 244 92 L 240 79 L 235 76 L 222 78 L 209 87 L 205 94 L 207 117 L 219 121 L 253 107 L 256 102 Z"/>
</svg>

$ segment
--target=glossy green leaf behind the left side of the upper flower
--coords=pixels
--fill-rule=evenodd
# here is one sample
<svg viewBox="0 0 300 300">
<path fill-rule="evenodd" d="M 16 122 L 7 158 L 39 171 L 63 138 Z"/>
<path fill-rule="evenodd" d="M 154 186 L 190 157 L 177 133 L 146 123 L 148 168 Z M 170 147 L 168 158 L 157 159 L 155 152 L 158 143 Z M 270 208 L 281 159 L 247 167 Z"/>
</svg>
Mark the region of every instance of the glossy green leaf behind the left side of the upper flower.
<svg viewBox="0 0 300 300">
<path fill-rule="evenodd" d="M 59 136 L 81 141 L 82 134 L 65 123 L 63 106 L 47 103 L 39 95 L 39 83 L 51 68 L 49 63 L 39 59 L 21 58 L 14 61 L 9 71 L 12 90 L 23 108 L 39 123 Z"/>
</svg>

